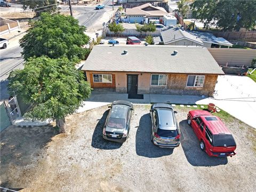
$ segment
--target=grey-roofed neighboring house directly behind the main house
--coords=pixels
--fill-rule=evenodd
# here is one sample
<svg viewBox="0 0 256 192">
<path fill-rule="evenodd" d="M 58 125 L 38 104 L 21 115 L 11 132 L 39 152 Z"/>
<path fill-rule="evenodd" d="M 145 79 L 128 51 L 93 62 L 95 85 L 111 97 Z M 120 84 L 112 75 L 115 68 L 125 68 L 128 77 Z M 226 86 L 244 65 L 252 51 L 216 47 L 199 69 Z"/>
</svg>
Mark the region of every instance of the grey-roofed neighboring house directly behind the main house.
<svg viewBox="0 0 256 192">
<path fill-rule="evenodd" d="M 232 46 L 225 38 L 215 37 L 211 33 L 186 31 L 179 27 L 162 29 L 161 36 L 165 45 L 196 45 L 204 47 Z M 158 42 L 155 42 L 158 44 Z"/>
</svg>

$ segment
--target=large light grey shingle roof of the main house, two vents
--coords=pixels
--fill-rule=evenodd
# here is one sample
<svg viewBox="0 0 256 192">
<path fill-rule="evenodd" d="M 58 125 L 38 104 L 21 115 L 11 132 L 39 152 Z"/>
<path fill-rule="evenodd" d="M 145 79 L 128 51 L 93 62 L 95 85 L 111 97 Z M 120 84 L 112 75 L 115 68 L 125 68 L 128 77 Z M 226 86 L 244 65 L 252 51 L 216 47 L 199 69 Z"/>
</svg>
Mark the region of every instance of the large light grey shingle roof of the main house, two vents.
<svg viewBox="0 0 256 192">
<path fill-rule="evenodd" d="M 82 70 L 224 74 L 206 47 L 167 45 L 97 45 Z"/>
</svg>

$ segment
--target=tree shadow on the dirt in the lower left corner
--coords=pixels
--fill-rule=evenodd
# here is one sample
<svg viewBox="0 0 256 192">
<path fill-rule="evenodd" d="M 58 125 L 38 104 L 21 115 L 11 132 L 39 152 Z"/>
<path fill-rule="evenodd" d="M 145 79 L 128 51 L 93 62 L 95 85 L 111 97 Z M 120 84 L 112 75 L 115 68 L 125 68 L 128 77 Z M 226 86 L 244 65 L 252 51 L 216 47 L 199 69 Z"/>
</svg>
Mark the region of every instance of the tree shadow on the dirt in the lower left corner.
<svg viewBox="0 0 256 192">
<path fill-rule="evenodd" d="M 42 149 L 58 134 L 53 126 L 17 127 L 9 126 L 1 132 L 1 180 L 9 185 L 7 177 L 13 167 L 24 167 L 35 161 Z M 9 170 L 11 169 L 11 170 Z"/>
</svg>

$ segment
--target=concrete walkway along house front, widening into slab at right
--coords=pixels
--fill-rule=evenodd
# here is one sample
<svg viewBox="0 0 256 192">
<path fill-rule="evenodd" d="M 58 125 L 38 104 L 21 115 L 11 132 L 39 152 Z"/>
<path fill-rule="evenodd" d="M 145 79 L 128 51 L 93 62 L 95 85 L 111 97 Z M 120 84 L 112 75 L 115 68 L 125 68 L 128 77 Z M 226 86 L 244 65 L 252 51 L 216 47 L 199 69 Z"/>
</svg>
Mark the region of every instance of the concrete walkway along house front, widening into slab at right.
<svg viewBox="0 0 256 192">
<path fill-rule="evenodd" d="M 256 128 L 256 83 L 249 77 L 223 75 L 218 77 L 218 83 L 213 98 L 196 95 L 144 94 L 143 99 L 128 99 L 126 93 L 93 91 L 90 99 L 77 111 L 82 112 L 95 107 L 108 105 L 116 100 L 126 100 L 132 103 L 167 102 L 185 105 L 207 105 L 214 103 L 237 119 Z"/>
</svg>

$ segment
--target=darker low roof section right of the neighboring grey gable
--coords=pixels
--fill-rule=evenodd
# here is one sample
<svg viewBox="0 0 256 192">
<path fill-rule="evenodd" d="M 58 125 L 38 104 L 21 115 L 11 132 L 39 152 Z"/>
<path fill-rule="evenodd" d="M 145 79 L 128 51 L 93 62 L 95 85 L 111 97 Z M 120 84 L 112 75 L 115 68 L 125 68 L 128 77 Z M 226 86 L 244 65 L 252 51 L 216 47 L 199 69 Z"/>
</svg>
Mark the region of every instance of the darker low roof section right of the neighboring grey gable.
<svg viewBox="0 0 256 192">
<path fill-rule="evenodd" d="M 232 46 L 233 44 L 228 42 L 225 38 L 215 37 L 212 33 L 201 32 L 201 31 L 188 31 L 191 35 L 197 36 L 203 42 L 214 43 L 219 45 Z"/>
</svg>

